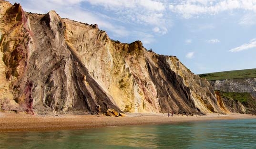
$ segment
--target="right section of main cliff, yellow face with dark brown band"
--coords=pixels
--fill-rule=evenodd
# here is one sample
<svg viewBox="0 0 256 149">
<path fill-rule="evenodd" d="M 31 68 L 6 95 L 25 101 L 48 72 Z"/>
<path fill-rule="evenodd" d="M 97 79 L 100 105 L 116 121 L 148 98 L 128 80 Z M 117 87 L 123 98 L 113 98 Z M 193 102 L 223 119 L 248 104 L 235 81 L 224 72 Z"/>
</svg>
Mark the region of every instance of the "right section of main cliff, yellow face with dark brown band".
<svg viewBox="0 0 256 149">
<path fill-rule="evenodd" d="M 114 42 L 96 25 L 63 21 L 67 44 L 122 111 L 223 112 L 209 83 L 175 56 L 147 52 L 140 41 Z"/>
</svg>

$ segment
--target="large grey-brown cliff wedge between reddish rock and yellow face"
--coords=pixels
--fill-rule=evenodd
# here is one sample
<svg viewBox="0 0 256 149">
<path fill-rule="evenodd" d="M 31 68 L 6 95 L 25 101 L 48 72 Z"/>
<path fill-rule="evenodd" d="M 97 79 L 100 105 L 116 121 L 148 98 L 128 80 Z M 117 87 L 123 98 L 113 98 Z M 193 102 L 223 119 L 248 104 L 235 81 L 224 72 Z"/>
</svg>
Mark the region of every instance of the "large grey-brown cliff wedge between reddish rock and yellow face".
<svg viewBox="0 0 256 149">
<path fill-rule="evenodd" d="M 31 14 L 30 17 L 35 43 L 39 43 L 35 45 L 36 48 L 31 55 L 30 69 L 33 74 L 41 72 L 36 75 L 42 78 L 42 81 L 45 80 L 40 87 L 41 94 L 44 95 L 39 97 L 42 98 L 42 102 L 51 107 L 53 112 L 81 111 L 95 114 L 97 105 L 101 105 L 102 112 L 108 108 L 120 112 L 88 74 L 86 67 L 68 42 L 63 45 L 65 39 L 62 32 L 65 30 L 62 23 L 60 24 L 59 16 L 50 11 L 46 15 Z M 29 75 L 36 79 L 31 73 Z M 36 107 L 40 108 L 40 104 L 44 103 L 38 102 Z"/>
</svg>

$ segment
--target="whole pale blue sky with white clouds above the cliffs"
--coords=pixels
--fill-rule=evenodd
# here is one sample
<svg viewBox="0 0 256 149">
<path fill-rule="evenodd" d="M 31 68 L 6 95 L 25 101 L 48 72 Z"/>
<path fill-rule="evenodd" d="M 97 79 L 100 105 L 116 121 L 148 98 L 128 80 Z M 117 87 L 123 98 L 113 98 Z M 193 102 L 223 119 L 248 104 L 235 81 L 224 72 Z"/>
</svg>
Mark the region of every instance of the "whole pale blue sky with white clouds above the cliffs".
<svg viewBox="0 0 256 149">
<path fill-rule="evenodd" d="M 256 68 L 256 0 L 9 0 L 98 24 L 113 40 L 177 56 L 193 73 Z"/>
</svg>

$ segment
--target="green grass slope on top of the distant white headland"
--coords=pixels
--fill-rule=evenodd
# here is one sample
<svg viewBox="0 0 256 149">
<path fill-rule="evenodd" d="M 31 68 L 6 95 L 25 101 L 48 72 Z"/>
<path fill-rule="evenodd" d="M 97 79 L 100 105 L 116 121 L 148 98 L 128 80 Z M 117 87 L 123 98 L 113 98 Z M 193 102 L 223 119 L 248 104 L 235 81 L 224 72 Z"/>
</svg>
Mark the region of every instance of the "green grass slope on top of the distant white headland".
<svg viewBox="0 0 256 149">
<path fill-rule="evenodd" d="M 233 70 L 217 73 L 201 74 L 202 78 L 211 80 L 238 79 L 238 78 L 253 78 L 256 77 L 256 69 Z"/>
</svg>

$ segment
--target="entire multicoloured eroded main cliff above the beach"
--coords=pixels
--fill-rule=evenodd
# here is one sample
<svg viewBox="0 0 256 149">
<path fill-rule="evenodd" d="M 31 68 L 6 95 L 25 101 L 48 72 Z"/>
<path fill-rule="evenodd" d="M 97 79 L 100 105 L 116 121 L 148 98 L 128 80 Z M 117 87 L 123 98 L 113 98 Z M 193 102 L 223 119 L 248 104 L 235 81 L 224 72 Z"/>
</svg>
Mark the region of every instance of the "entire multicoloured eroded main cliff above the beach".
<svg viewBox="0 0 256 149">
<path fill-rule="evenodd" d="M 0 0 L 4 110 L 205 114 L 229 112 L 175 56 L 111 40 L 97 25 L 27 13 Z"/>
</svg>

